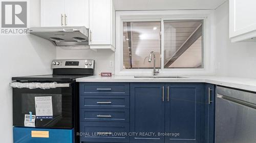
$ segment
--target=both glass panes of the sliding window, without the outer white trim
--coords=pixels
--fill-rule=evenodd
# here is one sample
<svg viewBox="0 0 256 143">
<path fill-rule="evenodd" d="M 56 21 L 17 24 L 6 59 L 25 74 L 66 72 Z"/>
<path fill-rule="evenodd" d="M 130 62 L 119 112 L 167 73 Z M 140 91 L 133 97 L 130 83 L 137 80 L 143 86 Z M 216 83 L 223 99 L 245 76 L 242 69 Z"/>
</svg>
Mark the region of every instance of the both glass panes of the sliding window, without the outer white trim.
<svg viewBox="0 0 256 143">
<path fill-rule="evenodd" d="M 123 69 L 161 66 L 161 22 L 123 22 Z M 203 68 L 203 20 L 164 20 L 164 68 Z"/>
</svg>

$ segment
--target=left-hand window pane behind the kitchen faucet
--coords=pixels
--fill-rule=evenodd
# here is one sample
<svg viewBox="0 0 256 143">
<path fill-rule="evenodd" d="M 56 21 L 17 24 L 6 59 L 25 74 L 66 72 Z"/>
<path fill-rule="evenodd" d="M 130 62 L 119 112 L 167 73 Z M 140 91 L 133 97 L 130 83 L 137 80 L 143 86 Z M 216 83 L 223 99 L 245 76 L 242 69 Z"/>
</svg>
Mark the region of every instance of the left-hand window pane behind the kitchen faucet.
<svg viewBox="0 0 256 143">
<path fill-rule="evenodd" d="M 161 22 L 123 22 L 123 69 L 153 68 L 148 62 L 151 51 L 160 67 Z"/>
</svg>

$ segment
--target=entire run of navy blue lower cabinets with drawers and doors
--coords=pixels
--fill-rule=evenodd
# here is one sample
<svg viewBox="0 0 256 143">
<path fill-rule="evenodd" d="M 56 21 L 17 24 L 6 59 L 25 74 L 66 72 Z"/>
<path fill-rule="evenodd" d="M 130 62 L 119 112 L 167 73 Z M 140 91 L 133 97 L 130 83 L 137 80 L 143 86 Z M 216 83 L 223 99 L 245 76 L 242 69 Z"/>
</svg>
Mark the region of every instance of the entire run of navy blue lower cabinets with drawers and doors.
<svg viewBox="0 0 256 143">
<path fill-rule="evenodd" d="M 81 84 L 82 143 L 214 143 L 215 85 L 95 84 Z"/>
</svg>

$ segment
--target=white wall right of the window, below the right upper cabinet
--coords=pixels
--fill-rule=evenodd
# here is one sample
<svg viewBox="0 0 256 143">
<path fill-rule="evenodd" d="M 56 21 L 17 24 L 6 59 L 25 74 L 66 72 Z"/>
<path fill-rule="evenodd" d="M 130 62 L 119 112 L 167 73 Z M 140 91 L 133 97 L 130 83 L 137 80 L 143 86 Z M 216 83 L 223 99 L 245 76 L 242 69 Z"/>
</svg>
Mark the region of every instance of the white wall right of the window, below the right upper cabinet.
<svg viewBox="0 0 256 143">
<path fill-rule="evenodd" d="M 229 40 L 228 2 L 216 12 L 217 75 L 256 78 L 256 43 L 231 43 Z"/>
</svg>

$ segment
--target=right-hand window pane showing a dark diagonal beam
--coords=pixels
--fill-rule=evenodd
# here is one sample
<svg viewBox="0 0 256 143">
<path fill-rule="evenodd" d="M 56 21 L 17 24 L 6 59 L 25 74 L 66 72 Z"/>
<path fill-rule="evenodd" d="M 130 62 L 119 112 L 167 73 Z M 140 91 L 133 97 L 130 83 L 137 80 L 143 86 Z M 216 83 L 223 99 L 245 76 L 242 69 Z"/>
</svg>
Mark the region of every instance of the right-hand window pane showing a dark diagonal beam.
<svg viewBox="0 0 256 143">
<path fill-rule="evenodd" d="M 203 68 L 203 20 L 164 21 L 164 68 Z"/>
</svg>

